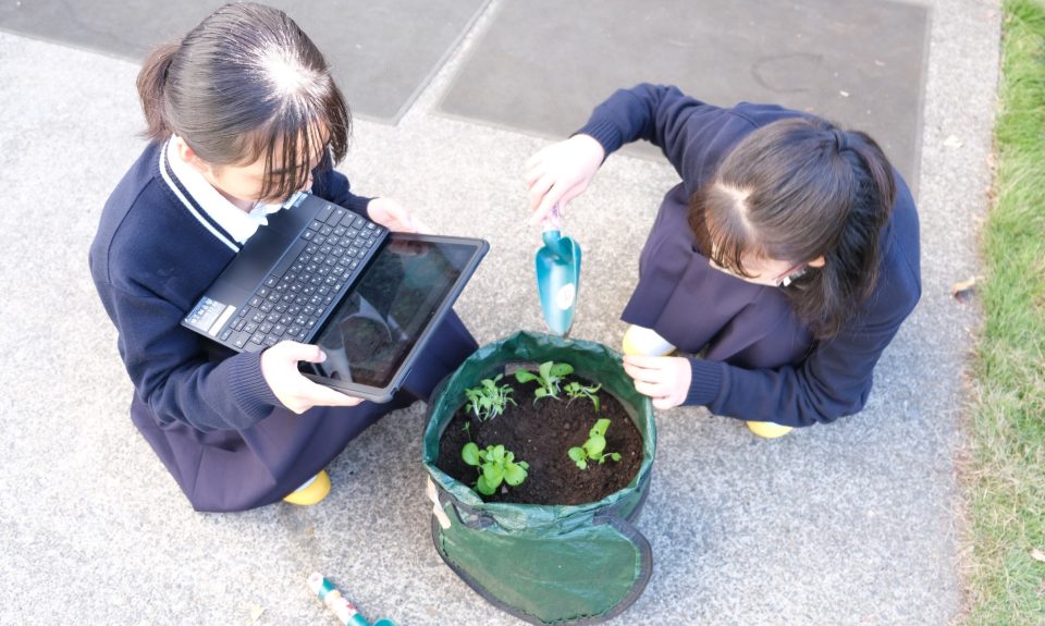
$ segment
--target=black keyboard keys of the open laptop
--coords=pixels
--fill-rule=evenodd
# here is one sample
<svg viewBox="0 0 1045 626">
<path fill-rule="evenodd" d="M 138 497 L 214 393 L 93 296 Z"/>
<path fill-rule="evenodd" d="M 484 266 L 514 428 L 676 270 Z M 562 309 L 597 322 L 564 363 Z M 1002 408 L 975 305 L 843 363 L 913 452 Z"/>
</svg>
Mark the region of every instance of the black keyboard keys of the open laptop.
<svg viewBox="0 0 1045 626">
<path fill-rule="evenodd" d="M 382 226 L 328 205 L 302 233 L 219 339 L 245 352 L 305 342 L 382 238 Z"/>
</svg>

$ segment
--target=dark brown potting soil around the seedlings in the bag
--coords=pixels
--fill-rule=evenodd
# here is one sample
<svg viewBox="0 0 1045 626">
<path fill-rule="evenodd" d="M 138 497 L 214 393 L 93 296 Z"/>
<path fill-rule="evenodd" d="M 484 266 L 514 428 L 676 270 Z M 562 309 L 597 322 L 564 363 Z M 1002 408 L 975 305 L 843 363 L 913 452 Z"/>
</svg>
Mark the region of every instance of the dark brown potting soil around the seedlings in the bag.
<svg viewBox="0 0 1045 626">
<path fill-rule="evenodd" d="M 570 375 L 566 381 L 579 380 Z M 515 502 L 519 504 L 585 504 L 598 502 L 619 491 L 631 482 L 642 465 L 642 435 L 614 396 L 599 390 L 600 413 L 587 397 L 570 401 L 561 393 L 560 398 L 543 397 L 533 402 L 536 382 L 520 383 L 514 376 L 505 376 L 497 383 L 509 384 L 515 390 L 511 397 L 517 403 L 508 404 L 505 412 L 487 421 L 480 421 L 465 412 L 466 398 L 443 431 L 439 442 L 439 459 L 435 465 L 453 478 L 474 487 L 479 477 L 478 468 L 464 462 L 460 449 L 468 443 L 469 433 L 465 424 L 470 424 L 471 441 L 480 449 L 488 445 L 504 445 L 515 453 L 516 463 L 530 464 L 522 484 L 508 487 L 502 483 L 493 495 L 480 495 L 487 502 Z M 564 384 L 565 386 L 565 384 Z M 588 462 L 588 469 L 580 469 L 567 451 L 580 446 L 588 439 L 588 431 L 595 420 L 611 420 L 606 430 L 606 453 L 620 454 L 619 462 L 607 458 L 605 463 Z M 478 492 L 477 492 L 478 493 Z"/>
</svg>

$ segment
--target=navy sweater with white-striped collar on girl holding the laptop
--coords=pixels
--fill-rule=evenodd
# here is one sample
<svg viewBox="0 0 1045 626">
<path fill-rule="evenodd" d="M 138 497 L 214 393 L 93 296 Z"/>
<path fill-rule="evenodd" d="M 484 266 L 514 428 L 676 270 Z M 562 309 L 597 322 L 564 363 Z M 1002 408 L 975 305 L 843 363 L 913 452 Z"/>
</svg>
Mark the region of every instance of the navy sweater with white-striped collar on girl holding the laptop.
<svg viewBox="0 0 1045 626">
<path fill-rule="evenodd" d="M 260 353 L 235 354 L 181 326 L 238 246 L 181 188 L 164 152 L 149 145 L 106 202 L 90 273 L 135 394 L 157 422 L 244 430 L 279 406 Z M 369 198 L 353 195 L 329 162 L 312 193 L 367 214 Z"/>
</svg>

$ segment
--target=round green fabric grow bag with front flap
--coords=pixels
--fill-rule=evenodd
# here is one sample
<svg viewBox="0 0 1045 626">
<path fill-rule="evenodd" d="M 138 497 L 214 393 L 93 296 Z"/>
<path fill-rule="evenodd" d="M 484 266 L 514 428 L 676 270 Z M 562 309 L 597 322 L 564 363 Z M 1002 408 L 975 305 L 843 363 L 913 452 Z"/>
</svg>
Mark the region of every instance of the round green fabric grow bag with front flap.
<svg viewBox="0 0 1045 626">
<path fill-rule="evenodd" d="M 550 506 L 483 502 L 435 467 L 439 442 L 464 390 L 507 366 L 565 361 L 602 383 L 643 441 L 638 474 L 620 491 L 589 504 Z M 429 407 L 422 461 L 435 486 L 432 540 L 443 561 L 490 603 L 531 624 L 598 624 L 635 602 L 653 572 L 650 544 L 632 526 L 650 489 L 655 451 L 650 400 L 635 391 L 620 355 L 603 345 L 519 332 L 480 347 L 443 381 Z"/>
</svg>

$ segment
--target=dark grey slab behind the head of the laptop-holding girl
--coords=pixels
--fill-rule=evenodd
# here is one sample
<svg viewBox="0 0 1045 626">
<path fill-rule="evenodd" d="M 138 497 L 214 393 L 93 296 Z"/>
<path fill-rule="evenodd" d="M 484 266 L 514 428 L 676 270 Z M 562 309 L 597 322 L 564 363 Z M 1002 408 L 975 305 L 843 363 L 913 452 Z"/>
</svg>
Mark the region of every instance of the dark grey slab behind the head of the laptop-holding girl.
<svg viewBox="0 0 1045 626">
<path fill-rule="evenodd" d="M 272 0 L 292 14 L 332 66 L 353 110 L 398 121 L 488 0 Z M 0 28 L 140 61 L 225 2 L 33 0 L 0 4 Z"/>
</svg>

